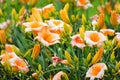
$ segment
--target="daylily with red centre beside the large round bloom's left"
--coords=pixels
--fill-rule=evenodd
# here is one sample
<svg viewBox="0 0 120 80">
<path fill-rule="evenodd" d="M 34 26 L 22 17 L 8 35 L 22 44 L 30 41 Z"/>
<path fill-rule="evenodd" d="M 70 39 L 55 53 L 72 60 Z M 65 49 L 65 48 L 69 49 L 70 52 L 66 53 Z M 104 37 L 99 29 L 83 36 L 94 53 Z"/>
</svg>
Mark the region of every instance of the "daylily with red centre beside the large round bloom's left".
<svg viewBox="0 0 120 80">
<path fill-rule="evenodd" d="M 80 37 L 80 34 L 76 34 L 72 36 L 71 38 L 72 38 L 72 41 L 71 41 L 72 46 L 77 46 L 79 48 L 85 47 L 84 41 Z"/>
</svg>

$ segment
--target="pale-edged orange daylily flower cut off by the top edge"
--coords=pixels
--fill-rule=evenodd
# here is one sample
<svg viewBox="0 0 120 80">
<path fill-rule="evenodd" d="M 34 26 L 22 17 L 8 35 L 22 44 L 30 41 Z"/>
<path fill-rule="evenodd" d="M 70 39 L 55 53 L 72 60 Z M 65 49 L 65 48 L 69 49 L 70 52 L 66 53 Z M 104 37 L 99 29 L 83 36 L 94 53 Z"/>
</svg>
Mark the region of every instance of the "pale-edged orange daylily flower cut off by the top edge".
<svg viewBox="0 0 120 80">
<path fill-rule="evenodd" d="M 77 6 L 83 7 L 84 9 L 92 7 L 90 0 L 75 0 L 75 1 L 77 2 Z"/>
</svg>

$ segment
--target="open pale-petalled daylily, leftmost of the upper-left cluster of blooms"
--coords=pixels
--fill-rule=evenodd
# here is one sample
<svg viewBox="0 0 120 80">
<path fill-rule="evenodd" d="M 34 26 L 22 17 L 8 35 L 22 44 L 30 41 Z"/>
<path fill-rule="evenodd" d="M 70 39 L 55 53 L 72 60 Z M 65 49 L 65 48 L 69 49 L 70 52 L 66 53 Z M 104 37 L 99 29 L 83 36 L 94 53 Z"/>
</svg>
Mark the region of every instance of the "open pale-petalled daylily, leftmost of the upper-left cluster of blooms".
<svg viewBox="0 0 120 80">
<path fill-rule="evenodd" d="M 26 27 L 25 32 L 33 31 L 34 33 L 41 31 L 42 27 L 48 26 L 47 24 L 43 22 L 37 22 L 37 21 L 25 22 L 23 23 L 23 25 Z"/>
</svg>

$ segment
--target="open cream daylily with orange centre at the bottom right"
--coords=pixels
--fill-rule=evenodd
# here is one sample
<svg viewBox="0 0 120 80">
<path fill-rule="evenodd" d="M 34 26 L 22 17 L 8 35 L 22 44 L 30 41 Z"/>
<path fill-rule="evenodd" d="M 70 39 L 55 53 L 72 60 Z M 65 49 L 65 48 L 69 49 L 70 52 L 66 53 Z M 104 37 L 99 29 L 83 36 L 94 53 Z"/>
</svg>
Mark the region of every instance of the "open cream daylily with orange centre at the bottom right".
<svg viewBox="0 0 120 80">
<path fill-rule="evenodd" d="M 96 63 L 86 73 L 86 78 L 90 77 L 90 80 L 95 78 L 102 78 L 104 76 L 104 70 L 107 70 L 107 66 L 104 63 Z"/>
</svg>

